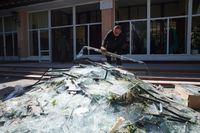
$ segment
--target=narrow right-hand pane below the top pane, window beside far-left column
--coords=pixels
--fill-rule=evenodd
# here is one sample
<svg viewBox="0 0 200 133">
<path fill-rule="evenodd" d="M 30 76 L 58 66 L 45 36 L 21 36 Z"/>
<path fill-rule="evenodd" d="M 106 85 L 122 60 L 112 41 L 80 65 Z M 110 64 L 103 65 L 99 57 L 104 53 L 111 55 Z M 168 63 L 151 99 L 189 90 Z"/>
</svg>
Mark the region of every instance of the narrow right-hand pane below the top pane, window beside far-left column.
<svg viewBox="0 0 200 133">
<path fill-rule="evenodd" d="M 49 50 L 48 30 L 41 30 L 40 31 L 40 50 Z"/>
</svg>

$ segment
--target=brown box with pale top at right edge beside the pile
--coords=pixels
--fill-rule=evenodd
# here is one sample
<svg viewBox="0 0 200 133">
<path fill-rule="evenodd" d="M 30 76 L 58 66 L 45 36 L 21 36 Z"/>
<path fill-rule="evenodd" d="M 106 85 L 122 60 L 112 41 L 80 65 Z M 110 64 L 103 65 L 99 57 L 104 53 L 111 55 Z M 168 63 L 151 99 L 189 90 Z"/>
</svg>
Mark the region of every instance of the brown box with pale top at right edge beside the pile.
<svg viewBox="0 0 200 133">
<path fill-rule="evenodd" d="M 194 85 L 175 85 L 175 91 L 186 100 L 186 106 L 200 109 L 200 87 Z"/>
</svg>

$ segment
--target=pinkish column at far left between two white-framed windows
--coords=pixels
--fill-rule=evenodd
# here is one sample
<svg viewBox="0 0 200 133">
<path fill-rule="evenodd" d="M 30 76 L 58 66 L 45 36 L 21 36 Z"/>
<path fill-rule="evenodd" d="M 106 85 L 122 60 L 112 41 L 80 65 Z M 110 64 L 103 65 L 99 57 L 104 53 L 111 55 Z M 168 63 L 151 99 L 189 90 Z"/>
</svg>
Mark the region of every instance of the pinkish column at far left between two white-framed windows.
<svg viewBox="0 0 200 133">
<path fill-rule="evenodd" d="M 28 13 L 21 11 L 18 13 L 17 21 L 17 38 L 18 38 L 18 54 L 19 57 L 25 58 L 29 56 L 28 47 Z"/>
</svg>

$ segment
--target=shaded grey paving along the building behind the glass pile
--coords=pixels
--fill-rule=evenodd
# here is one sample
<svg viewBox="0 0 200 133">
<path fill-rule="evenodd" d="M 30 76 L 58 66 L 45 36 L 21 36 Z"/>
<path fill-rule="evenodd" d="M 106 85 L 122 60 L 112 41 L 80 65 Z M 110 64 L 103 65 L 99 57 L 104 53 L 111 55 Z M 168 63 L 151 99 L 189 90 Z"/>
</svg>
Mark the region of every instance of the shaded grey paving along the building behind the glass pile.
<svg viewBox="0 0 200 133">
<path fill-rule="evenodd" d="M 2 63 L 0 64 L 1 69 L 15 68 L 16 70 L 24 71 L 39 71 L 47 70 L 48 68 L 70 68 L 74 63 Z M 12 69 L 13 69 L 12 68 Z M 165 76 L 165 77 L 196 77 L 200 78 L 200 63 L 147 63 L 144 64 L 133 64 L 123 63 L 122 68 L 132 71 L 136 75 L 147 75 L 148 76 Z M 148 69 L 147 69 L 148 68 Z"/>
</svg>

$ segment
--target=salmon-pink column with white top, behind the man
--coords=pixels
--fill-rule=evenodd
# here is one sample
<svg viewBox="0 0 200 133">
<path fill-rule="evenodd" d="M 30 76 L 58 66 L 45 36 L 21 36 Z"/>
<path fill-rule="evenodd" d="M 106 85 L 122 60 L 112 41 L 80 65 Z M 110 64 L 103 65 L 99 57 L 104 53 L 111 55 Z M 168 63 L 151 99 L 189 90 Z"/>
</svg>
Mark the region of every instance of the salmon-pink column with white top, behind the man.
<svg viewBox="0 0 200 133">
<path fill-rule="evenodd" d="M 111 30 L 115 24 L 115 0 L 102 0 L 100 2 L 101 8 L 101 30 L 102 39 L 106 33 Z"/>
</svg>

